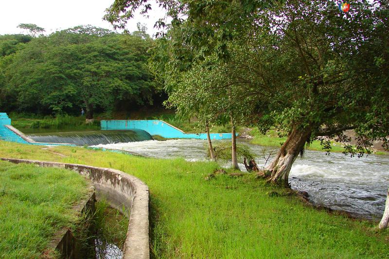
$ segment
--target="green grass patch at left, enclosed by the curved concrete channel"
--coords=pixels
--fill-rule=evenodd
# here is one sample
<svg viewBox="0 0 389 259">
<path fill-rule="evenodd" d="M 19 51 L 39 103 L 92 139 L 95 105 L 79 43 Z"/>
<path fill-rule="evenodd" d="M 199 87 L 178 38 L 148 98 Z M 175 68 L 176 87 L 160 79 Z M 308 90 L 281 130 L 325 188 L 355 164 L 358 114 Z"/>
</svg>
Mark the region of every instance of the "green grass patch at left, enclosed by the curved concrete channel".
<svg viewBox="0 0 389 259">
<path fill-rule="evenodd" d="M 0 161 L 0 258 L 39 257 L 56 231 L 76 222 L 71 207 L 86 187 L 72 171 Z"/>
</svg>

